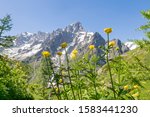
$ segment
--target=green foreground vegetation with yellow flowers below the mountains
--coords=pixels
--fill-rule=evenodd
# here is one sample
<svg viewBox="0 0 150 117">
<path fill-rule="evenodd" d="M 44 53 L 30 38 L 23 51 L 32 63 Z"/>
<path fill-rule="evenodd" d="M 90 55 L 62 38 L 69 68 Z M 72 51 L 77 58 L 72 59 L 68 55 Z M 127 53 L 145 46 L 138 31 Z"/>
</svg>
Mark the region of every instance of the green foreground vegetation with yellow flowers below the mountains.
<svg viewBox="0 0 150 117">
<path fill-rule="evenodd" d="M 142 11 L 149 21 L 150 11 Z M 9 21 L 8 21 L 9 22 Z M 9 24 L 9 23 L 8 23 Z M 27 66 L 0 58 L 0 99 L 58 99 L 58 100 L 99 100 L 99 99 L 150 99 L 150 24 L 140 27 L 147 39 L 138 40 L 139 48 L 124 55 L 109 59 L 109 51 L 116 50 L 110 41 L 111 28 L 104 29 L 107 45 L 102 56 L 96 56 L 94 45 L 82 57 L 78 50 L 69 56 L 67 43 L 60 46 L 65 50 L 66 63 L 62 63 L 62 52 L 58 52 L 59 66 L 55 66 L 49 51 L 43 51 L 41 83 L 29 83 Z M 105 59 L 101 66 L 98 61 Z M 49 84 L 49 85 L 47 85 Z"/>
</svg>

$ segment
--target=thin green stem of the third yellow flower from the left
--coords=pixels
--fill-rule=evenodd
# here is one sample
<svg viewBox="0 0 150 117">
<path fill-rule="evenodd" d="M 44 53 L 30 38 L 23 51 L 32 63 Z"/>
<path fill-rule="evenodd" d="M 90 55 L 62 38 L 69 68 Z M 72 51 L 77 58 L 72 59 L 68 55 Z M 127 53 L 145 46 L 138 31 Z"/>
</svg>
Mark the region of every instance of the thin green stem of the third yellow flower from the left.
<svg viewBox="0 0 150 117">
<path fill-rule="evenodd" d="M 73 90 L 73 85 L 72 85 L 72 80 L 71 80 L 71 76 L 70 76 L 69 59 L 68 59 L 68 55 L 67 55 L 66 49 L 65 49 L 65 53 L 66 53 L 66 59 L 67 59 L 67 71 L 68 71 L 68 76 L 69 76 L 69 82 L 70 82 L 70 85 L 71 85 L 71 91 L 72 91 L 72 94 L 73 94 L 73 98 L 75 100 L 76 98 L 75 98 L 75 94 L 74 94 L 74 90 Z"/>
</svg>

